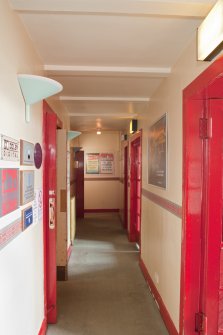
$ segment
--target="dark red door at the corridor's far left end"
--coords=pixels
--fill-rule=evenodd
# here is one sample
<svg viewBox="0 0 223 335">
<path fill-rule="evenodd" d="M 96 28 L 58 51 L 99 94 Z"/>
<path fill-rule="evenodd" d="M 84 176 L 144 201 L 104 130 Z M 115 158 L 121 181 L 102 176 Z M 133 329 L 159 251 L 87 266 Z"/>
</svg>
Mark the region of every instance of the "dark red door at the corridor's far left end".
<svg viewBox="0 0 223 335">
<path fill-rule="evenodd" d="M 84 217 L 84 151 L 75 153 L 76 216 Z"/>
</svg>

